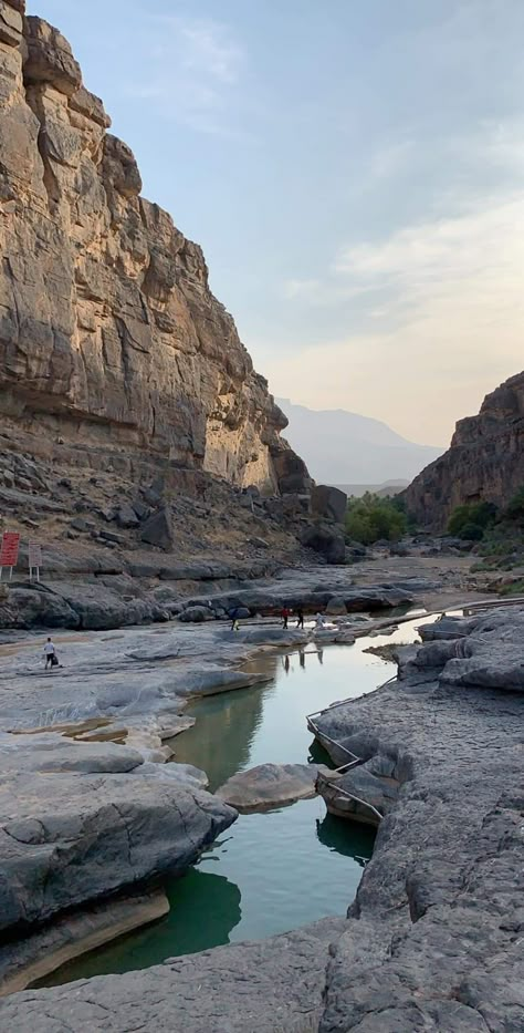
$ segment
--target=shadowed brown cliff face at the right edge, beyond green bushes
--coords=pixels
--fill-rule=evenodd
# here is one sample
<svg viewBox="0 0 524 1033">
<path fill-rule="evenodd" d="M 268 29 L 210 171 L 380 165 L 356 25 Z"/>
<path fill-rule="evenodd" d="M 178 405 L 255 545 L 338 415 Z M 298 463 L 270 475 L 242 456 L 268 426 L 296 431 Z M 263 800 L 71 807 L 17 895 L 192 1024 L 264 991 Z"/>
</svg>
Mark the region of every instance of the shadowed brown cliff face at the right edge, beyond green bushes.
<svg viewBox="0 0 524 1033">
<path fill-rule="evenodd" d="M 507 504 L 524 485 L 524 372 L 486 395 L 457 424 L 451 446 L 407 488 L 408 509 L 440 530 L 455 506 Z"/>
</svg>

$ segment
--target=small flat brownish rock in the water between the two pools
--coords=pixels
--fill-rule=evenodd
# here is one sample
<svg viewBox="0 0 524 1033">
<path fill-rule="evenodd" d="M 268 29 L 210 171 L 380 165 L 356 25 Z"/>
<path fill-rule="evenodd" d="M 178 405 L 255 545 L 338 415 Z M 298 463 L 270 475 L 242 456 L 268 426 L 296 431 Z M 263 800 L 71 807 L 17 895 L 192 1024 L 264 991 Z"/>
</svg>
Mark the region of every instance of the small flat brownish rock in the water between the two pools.
<svg viewBox="0 0 524 1033">
<path fill-rule="evenodd" d="M 317 764 L 259 764 L 233 775 L 217 789 L 216 796 L 241 814 L 268 810 L 315 796 L 319 769 L 327 772 Z"/>
</svg>

